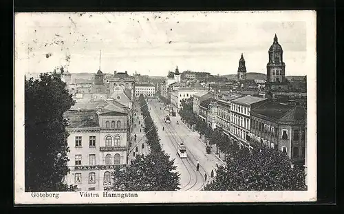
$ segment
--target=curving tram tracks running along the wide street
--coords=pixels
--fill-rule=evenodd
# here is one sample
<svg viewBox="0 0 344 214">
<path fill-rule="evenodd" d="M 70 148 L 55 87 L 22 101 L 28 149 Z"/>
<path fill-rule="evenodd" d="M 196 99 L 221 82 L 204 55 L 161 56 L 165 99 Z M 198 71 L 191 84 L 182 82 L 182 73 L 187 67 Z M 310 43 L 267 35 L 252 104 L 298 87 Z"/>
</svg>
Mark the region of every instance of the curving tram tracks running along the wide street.
<svg viewBox="0 0 344 214">
<path fill-rule="evenodd" d="M 158 116 L 158 119 L 160 120 L 160 122 L 162 122 L 162 124 L 164 124 L 164 118 L 162 118 L 162 116 L 160 116 L 158 114 L 158 110 L 155 110 L 155 108 L 153 108 L 154 113 Z M 178 151 L 179 148 L 179 142 L 182 142 L 182 137 L 177 133 L 177 132 L 173 132 L 172 127 L 170 125 L 166 126 L 166 131 L 169 133 L 168 134 L 168 138 L 171 140 L 171 143 L 173 145 L 173 147 L 175 148 L 175 151 Z M 178 140 L 178 138 L 180 138 L 180 140 Z M 191 156 L 193 158 L 193 160 L 196 160 L 195 156 L 193 156 L 193 153 L 191 153 L 190 151 L 188 152 L 188 156 Z M 191 189 L 193 189 L 197 184 L 199 184 L 199 176 L 197 174 L 197 171 L 195 171 L 194 169 L 196 168 L 196 164 L 195 162 L 193 162 L 192 160 L 189 160 L 189 158 L 180 158 L 182 164 L 184 164 L 184 167 L 186 168 L 186 171 L 188 171 L 189 173 L 189 182 L 185 185 L 182 186 L 181 190 L 182 191 L 189 191 Z M 191 170 L 193 169 L 193 170 Z M 203 169 L 202 166 L 200 166 L 200 169 Z M 203 171 L 206 173 L 206 171 L 203 169 Z M 196 191 L 199 191 L 200 189 L 203 188 L 204 184 L 205 184 L 205 180 L 202 176 L 202 173 L 199 171 L 199 175 L 202 178 L 202 186 L 200 188 L 197 188 Z M 192 178 L 195 178 L 195 182 L 192 182 Z"/>
</svg>

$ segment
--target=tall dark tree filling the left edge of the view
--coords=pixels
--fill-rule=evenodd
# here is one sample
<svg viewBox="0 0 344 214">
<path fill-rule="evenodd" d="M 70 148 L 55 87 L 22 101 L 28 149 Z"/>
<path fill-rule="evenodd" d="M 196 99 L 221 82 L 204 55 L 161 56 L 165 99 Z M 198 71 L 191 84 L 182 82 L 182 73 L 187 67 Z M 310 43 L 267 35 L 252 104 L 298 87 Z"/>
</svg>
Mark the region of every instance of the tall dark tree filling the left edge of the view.
<svg viewBox="0 0 344 214">
<path fill-rule="evenodd" d="M 61 74 L 25 78 L 25 191 L 72 191 L 63 178 L 67 167 L 67 120 L 75 101 Z"/>
</svg>

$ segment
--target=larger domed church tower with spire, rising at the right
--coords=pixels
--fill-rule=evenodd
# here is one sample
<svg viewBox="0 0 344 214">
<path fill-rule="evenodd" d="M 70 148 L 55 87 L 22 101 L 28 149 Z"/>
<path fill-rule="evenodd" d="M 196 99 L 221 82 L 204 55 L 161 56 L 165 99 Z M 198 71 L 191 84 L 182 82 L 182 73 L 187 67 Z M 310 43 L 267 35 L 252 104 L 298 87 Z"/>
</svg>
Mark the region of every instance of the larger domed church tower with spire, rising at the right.
<svg viewBox="0 0 344 214">
<path fill-rule="evenodd" d="M 268 89 L 288 89 L 286 83 L 286 64 L 283 62 L 283 50 L 279 45 L 277 35 L 269 49 L 269 61 L 266 65 L 266 83 Z"/>
</svg>

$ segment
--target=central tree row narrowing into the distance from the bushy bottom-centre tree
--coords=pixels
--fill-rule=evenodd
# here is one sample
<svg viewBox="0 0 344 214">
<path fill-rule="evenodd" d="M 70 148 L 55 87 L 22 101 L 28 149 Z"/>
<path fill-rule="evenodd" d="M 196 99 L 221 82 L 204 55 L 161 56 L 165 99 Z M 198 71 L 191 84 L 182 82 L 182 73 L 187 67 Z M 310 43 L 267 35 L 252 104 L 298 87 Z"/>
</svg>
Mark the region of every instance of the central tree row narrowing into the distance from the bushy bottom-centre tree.
<svg viewBox="0 0 344 214">
<path fill-rule="evenodd" d="M 146 146 L 151 152 L 136 155 L 130 165 L 115 169 L 113 191 L 177 191 L 180 189 L 180 174 L 176 171 L 174 160 L 162 150 L 158 129 L 149 114 L 146 100 L 139 98 L 144 119 Z"/>
</svg>

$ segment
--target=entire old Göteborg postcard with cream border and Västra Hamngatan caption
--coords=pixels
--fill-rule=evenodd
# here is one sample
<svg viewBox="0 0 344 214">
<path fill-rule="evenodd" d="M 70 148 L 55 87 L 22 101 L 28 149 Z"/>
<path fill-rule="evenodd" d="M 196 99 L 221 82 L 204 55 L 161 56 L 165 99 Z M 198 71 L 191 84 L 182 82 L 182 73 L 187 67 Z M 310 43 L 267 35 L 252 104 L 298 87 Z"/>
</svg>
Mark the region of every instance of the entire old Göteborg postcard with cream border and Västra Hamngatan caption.
<svg viewBox="0 0 344 214">
<path fill-rule="evenodd" d="M 316 12 L 14 21 L 15 204 L 316 201 Z"/>
</svg>

